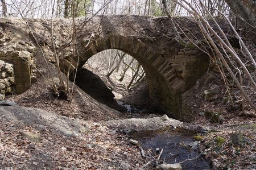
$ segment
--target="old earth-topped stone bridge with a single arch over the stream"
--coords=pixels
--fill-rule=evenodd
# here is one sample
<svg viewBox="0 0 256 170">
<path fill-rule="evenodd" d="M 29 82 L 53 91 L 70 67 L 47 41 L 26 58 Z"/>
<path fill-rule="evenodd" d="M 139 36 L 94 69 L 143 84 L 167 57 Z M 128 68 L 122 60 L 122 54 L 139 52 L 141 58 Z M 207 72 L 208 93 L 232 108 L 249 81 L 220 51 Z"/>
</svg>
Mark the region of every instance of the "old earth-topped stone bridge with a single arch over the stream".
<svg viewBox="0 0 256 170">
<path fill-rule="evenodd" d="M 23 24 L 26 28 L 20 20 L 15 22 Z M 35 35 L 39 39 L 42 48 L 49 45 L 44 50 L 50 60 L 53 53 L 50 38 L 51 21 L 34 19 L 28 20 L 28 23 L 34 30 L 37 30 Z M 174 23 L 179 23 L 184 32 L 177 31 L 179 27 Z M 0 27 L 8 27 L 7 25 L 10 27 L 11 24 L 10 20 L 6 19 L 0 22 Z M 86 61 L 98 52 L 106 49 L 121 50 L 133 56 L 142 65 L 146 72 L 151 99 L 159 103 L 162 109 L 172 117 L 177 119 L 190 117 L 192 110 L 183 102 L 184 94 L 195 85 L 202 74 L 207 72 L 209 65 L 208 56 L 195 44 L 188 41 L 188 38 L 190 38 L 196 44 L 199 44 L 202 39 L 200 30 L 193 19 L 176 18 L 172 21 L 164 17 L 96 16 L 90 19 L 89 22 L 78 18 L 76 19 L 76 25 L 77 39 L 72 42 L 72 20 L 61 19 L 55 20 L 53 23 L 56 51 L 57 55 L 60 56 L 61 68 L 64 73 L 67 74 L 68 69 L 71 73 L 76 68 L 79 71 Z M 16 27 L 11 26 L 12 29 Z M 19 27 L 24 31 L 25 28 Z M 19 43 L 18 49 L 13 47 L 14 51 L 18 51 L 17 53 L 22 51 L 23 56 L 24 51 L 26 51 L 31 58 L 34 56 L 34 59 L 38 60 L 35 56 L 36 52 L 29 50 L 35 47 L 36 44 L 31 39 L 30 33 L 27 30 L 26 32 L 28 37 L 24 38 L 19 35 L 18 38 L 13 38 L 13 41 L 11 41 L 17 42 L 23 39 L 26 42 L 24 44 Z M 73 43 L 77 45 L 76 56 L 73 56 L 71 52 Z M 20 48 L 22 45 L 24 48 Z M 4 55 L 3 51 L 5 50 L 0 49 L 0 60 L 7 59 L 8 54 Z M 15 57 L 19 57 L 19 55 Z M 14 63 L 15 80 L 18 81 L 16 84 L 14 83 L 14 89 L 15 85 L 19 86 L 19 88 L 16 88 L 19 90 L 16 91 L 21 93 L 31 85 L 31 77 L 33 77 L 31 65 L 33 64 L 28 62 L 27 72 L 24 72 L 24 69 L 20 69 L 19 65 L 15 65 L 18 60 L 14 57 L 11 57 L 9 61 Z M 24 63 L 26 61 L 22 63 L 23 68 Z M 19 77 L 23 77 L 22 80 Z M 26 83 L 22 84 L 22 81 L 26 81 Z"/>
</svg>

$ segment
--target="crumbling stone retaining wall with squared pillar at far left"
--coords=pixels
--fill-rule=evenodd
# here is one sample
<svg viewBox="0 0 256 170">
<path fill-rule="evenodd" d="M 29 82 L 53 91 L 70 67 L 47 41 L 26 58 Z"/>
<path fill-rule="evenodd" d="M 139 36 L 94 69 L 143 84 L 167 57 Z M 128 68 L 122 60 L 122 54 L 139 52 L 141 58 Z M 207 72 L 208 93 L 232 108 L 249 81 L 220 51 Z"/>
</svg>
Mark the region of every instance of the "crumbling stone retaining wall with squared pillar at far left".
<svg viewBox="0 0 256 170">
<path fill-rule="evenodd" d="M 31 43 L 0 39 L 0 99 L 5 94 L 20 94 L 36 81 L 35 47 Z"/>
</svg>

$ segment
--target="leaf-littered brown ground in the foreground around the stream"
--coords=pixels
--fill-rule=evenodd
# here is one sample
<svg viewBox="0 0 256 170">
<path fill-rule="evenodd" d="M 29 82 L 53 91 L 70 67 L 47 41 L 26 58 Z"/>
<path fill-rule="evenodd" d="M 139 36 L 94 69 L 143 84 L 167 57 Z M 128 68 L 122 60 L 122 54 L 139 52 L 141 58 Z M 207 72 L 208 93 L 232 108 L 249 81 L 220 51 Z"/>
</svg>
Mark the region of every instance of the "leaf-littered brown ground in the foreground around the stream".
<svg viewBox="0 0 256 170">
<path fill-rule="evenodd" d="M 210 100 L 205 99 L 204 90 L 212 89 L 216 83 L 219 83 L 220 93 Z M 141 94 L 136 101 L 140 109 L 134 113 L 110 109 L 81 90 L 75 93 L 71 103 L 54 96 L 49 86 L 40 80 L 27 92 L 7 97 L 19 106 L 0 106 L 3 109 L 0 169 L 155 169 L 170 157 L 166 153 L 170 151 L 168 144 L 161 146 L 160 140 L 166 141 L 166 135 L 171 135 L 172 139 L 181 132 L 185 132 L 185 138 L 181 135 L 178 142 L 169 146 L 178 147 L 177 162 L 176 158 L 169 160 L 181 163 L 183 169 L 256 168 L 256 118 L 253 112 L 242 111 L 241 106 L 232 110 L 227 105 L 222 93 L 225 86 L 221 82 L 212 81 L 200 89 L 200 114 L 189 123 L 162 117 L 163 113 L 145 108 L 144 101 L 150 102 L 147 88 L 144 84 L 138 86 L 141 88 L 135 88 L 130 97 L 122 100 L 133 105 L 132 98 L 138 99 Z M 46 111 L 36 112 L 22 106 Z M 221 113 L 217 122 L 214 116 L 207 117 L 209 110 Z M 35 136 L 30 138 L 26 132 Z M 170 142 L 170 138 L 167 141 Z M 139 143 L 134 145 L 130 139 Z M 148 141 L 151 141 L 150 146 L 147 146 Z M 191 153 L 188 151 L 195 143 L 197 148 L 193 154 L 178 157 L 181 151 Z M 160 159 L 159 152 L 155 151 L 157 146 L 164 150 Z M 174 151 L 171 150 L 172 154 Z"/>
</svg>

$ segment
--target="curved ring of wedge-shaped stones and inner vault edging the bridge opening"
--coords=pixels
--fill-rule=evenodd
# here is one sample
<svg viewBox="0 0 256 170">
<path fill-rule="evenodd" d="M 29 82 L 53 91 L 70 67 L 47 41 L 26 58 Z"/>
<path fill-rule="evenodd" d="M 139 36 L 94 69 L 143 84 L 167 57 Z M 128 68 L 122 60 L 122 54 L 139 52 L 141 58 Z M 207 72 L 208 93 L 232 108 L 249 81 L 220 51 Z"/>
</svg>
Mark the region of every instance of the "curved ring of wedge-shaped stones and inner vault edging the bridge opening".
<svg viewBox="0 0 256 170">
<path fill-rule="evenodd" d="M 189 88 L 185 78 L 186 76 L 189 78 L 192 71 L 181 73 L 183 77 L 179 75 L 179 72 L 191 65 L 193 57 L 196 58 L 192 55 L 195 55 L 197 51 L 179 52 L 170 61 L 164 59 L 163 55 L 155 51 L 150 44 L 144 43 L 137 38 L 109 34 L 105 37 L 100 36 L 94 39 L 89 45 L 86 39 L 82 39 L 80 49 L 82 55 L 80 56 L 79 63 L 77 64 L 78 58 L 66 57 L 64 59 L 65 68 L 67 69 L 70 63 L 72 63 L 71 71 L 75 70 L 76 65 L 80 69 L 90 57 L 106 49 L 121 50 L 138 60 L 146 72 L 150 97 L 158 102 L 167 114 L 175 118 L 182 118 L 180 114 L 182 105 L 181 94 Z M 197 63 L 198 61 L 196 60 Z M 187 64 L 184 65 L 184 62 L 187 62 Z M 195 69 L 192 64 L 193 68 Z"/>
</svg>

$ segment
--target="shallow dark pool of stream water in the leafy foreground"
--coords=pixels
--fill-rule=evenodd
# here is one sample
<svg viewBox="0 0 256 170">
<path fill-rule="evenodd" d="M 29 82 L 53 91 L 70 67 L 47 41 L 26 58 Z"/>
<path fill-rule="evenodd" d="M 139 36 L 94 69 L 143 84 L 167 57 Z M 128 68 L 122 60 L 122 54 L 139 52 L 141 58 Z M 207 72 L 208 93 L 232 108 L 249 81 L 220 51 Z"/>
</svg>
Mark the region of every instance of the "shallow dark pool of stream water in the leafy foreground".
<svg viewBox="0 0 256 170">
<path fill-rule="evenodd" d="M 176 131 L 139 131 L 130 134 L 132 139 L 141 142 L 144 150 L 151 149 L 155 157 L 158 157 L 159 153 L 156 153 L 156 148 L 161 150 L 163 148 L 163 154 L 160 160 L 164 160 L 165 163 L 180 163 L 186 159 L 193 159 L 197 157 L 199 153 L 199 146 L 197 142 L 193 141 L 192 134 Z M 160 151 L 159 151 L 160 152 Z M 183 169 L 210 169 L 209 161 L 199 156 L 192 161 L 185 161 L 181 163 Z"/>
</svg>

